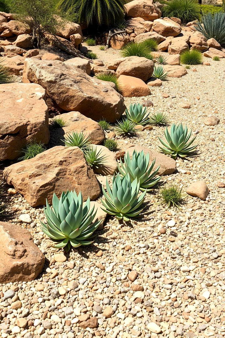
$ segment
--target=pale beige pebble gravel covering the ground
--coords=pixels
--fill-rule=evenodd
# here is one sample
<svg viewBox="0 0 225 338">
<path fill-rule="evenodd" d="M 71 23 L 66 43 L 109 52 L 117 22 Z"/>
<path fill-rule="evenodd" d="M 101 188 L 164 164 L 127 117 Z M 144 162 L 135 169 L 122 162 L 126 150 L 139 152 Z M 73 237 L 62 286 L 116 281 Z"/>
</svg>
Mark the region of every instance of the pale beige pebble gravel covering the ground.
<svg viewBox="0 0 225 338">
<path fill-rule="evenodd" d="M 98 52 L 103 61 L 113 54 L 119 56 L 118 51 Z M 177 171 L 162 178 L 183 187 L 181 209 L 166 209 L 155 190 L 147 194 L 140 222 L 122 224 L 109 217 L 93 245 L 65 257 L 40 230 L 43 209 L 31 208 L 20 195 L 10 197 L 10 221 L 28 228 L 46 264 L 35 281 L 0 286 L 1 293 L 12 290 L 0 304 L 2 338 L 225 336 L 225 190 L 217 187 L 225 182 L 225 60 L 204 61 L 211 66 L 191 67 L 186 76 L 151 88 L 148 97 L 125 99 L 126 104 L 149 99 L 152 112 L 164 112 L 197 134 L 197 156 L 177 160 Z M 186 101 L 191 108 L 180 108 Z M 210 114 L 220 118 L 218 125 L 203 124 Z M 163 128 L 153 127 L 132 142 L 157 150 L 158 136 L 163 137 Z M 210 189 L 206 201 L 185 193 L 198 179 Z M 19 221 L 24 213 L 31 224 Z M 15 310 L 18 300 L 21 307 Z M 89 318 L 92 328 L 85 329 Z"/>
</svg>

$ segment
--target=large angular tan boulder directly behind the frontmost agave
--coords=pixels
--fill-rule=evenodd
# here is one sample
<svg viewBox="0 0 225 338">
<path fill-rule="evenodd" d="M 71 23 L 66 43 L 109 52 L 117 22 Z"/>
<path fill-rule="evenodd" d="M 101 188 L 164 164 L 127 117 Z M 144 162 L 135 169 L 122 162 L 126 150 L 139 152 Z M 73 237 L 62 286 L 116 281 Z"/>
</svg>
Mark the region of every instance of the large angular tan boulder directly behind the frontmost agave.
<svg viewBox="0 0 225 338">
<path fill-rule="evenodd" d="M 100 194 L 97 179 L 78 147 L 53 147 L 33 159 L 12 164 L 3 174 L 32 207 L 46 204 L 46 198 L 51 202 L 54 192 L 60 197 L 63 191 L 81 191 L 84 201 Z"/>
</svg>

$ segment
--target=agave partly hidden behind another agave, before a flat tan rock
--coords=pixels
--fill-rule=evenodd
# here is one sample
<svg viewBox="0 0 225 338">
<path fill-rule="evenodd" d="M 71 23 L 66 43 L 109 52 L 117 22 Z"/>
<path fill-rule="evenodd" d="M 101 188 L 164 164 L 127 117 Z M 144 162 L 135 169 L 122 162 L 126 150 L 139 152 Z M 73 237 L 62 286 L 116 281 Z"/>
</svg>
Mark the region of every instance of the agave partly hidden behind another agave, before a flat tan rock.
<svg viewBox="0 0 225 338">
<path fill-rule="evenodd" d="M 137 178 L 140 183 L 140 190 L 147 192 L 151 191 L 152 187 L 156 185 L 160 177 L 156 176 L 160 166 L 152 172 L 152 169 L 156 163 L 156 160 L 153 160 L 149 166 L 149 154 L 144 154 L 143 150 L 141 152 L 133 151 L 132 159 L 130 159 L 129 152 L 124 156 L 124 163 L 120 161 L 118 164 L 119 172 L 122 176 L 129 175 L 131 182 Z M 148 167 L 149 166 L 149 167 Z"/>
</svg>

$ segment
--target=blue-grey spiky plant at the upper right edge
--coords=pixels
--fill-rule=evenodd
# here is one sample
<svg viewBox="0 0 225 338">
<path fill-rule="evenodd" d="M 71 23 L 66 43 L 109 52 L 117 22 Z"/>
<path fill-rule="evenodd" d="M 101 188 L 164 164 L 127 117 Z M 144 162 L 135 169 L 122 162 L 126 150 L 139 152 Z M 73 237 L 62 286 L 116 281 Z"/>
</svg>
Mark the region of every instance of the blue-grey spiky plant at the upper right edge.
<svg viewBox="0 0 225 338">
<path fill-rule="evenodd" d="M 225 45 L 225 13 L 212 15 L 208 13 L 197 22 L 195 28 L 208 40 L 214 38 L 221 45 Z"/>
</svg>

